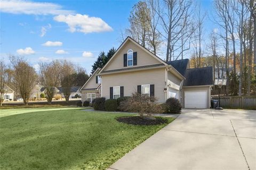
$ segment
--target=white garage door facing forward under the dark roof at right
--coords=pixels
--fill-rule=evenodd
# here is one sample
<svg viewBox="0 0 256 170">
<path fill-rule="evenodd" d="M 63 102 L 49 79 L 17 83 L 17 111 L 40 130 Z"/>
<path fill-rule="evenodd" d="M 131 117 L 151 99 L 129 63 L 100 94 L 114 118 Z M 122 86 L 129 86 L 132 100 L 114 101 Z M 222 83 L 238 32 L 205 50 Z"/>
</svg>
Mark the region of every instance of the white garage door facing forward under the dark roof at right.
<svg viewBox="0 0 256 170">
<path fill-rule="evenodd" d="M 207 108 L 207 91 L 185 91 L 185 108 Z"/>
</svg>

